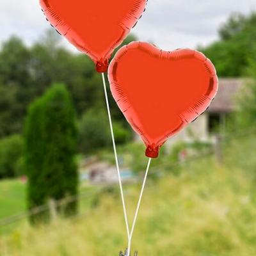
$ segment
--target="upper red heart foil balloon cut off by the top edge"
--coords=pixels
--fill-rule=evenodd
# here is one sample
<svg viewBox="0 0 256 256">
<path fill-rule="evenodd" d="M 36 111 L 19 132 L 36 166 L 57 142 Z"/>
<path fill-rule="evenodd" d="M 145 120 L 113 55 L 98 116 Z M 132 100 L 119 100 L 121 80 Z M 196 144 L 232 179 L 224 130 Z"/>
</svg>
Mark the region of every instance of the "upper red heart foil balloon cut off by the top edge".
<svg viewBox="0 0 256 256">
<path fill-rule="evenodd" d="M 147 0 L 40 0 L 42 10 L 58 32 L 88 54 L 98 72 L 140 19 Z"/>
</svg>

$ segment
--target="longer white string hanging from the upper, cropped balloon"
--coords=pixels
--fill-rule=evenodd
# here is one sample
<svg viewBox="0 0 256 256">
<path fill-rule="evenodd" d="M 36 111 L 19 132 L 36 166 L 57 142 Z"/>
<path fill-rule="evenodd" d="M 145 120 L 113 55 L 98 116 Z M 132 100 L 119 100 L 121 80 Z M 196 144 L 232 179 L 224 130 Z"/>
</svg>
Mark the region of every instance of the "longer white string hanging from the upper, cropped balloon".
<svg viewBox="0 0 256 256">
<path fill-rule="evenodd" d="M 129 224 L 128 224 L 128 218 L 127 218 L 127 211 L 126 211 L 126 207 L 125 207 L 124 191 L 123 191 L 122 180 L 121 180 L 121 175 L 120 175 L 119 163 L 118 163 L 118 158 L 117 158 L 117 153 L 116 153 L 115 136 L 114 136 L 114 132 L 113 132 L 113 124 L 112 124 L 111 113 L 110 113 L 110 109 L 109 109 L 108 93 L 107 93 L 104 73 L 102 73 L 102 81 L 103 81 L 104 93 L 105 93 L 107 110 L 108 110 L 108 119 L 109 119 L 109 126 L 110 126 L 110 131 L 111 131 L 112 142 L 113 142 L 113 149 L 114 149 L 114 154 L 115 154 L 118 182 L 119 182 L 119 186 L 120 186 L 122 205 L 123 205 L 123 209 L 124 209 L 124 218 L 125 218 L 125 225 L 126 225 L 126 230 L 127 230 L 127 237 L 128 237 L 128 241 L 129 241 L 129 239 L 130 239 Z"/>
</svg>

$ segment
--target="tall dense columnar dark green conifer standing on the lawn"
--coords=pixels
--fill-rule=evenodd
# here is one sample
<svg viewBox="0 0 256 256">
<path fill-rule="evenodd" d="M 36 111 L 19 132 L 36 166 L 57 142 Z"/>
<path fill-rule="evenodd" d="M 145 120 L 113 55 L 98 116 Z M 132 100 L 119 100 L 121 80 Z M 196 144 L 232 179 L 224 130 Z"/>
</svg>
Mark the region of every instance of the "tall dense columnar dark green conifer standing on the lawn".
<svg viewBox="0 0 256 256">
<path fill-rule="evenodd" d="M 61 200 L 77 195 L 75 116 L 72 99 L 62 84 L 49 88 L 29 108 L 25 129 L 29 209 L 45 204 L 49 199 Z M 65 204 L 61 211 L 76 213 L 77 202 Z M 31 220 L 35 221 L 35 218 Z"/>
</svg>

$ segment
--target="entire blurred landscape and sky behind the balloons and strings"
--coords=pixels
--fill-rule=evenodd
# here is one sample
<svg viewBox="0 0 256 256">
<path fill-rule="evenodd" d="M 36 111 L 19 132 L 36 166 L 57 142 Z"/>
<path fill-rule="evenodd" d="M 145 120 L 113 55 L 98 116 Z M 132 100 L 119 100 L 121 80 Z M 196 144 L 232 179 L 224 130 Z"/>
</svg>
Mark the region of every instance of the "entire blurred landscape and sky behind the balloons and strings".
<svg viewBox="0 0 256 256">
<path fill-rule="evenodd" d="M 0 2 L 0 255 L 118 255 L 127 239 L 101 76 L 38 1 L 23 2 Z M 256 255 L 255 0 L 148 0 L 132 40 L 198 49 L 220 77 L 210 108 L 152 161 L 133 249 Z M 131 222 L 145 146 L 109 100 Z"/>
</svg>

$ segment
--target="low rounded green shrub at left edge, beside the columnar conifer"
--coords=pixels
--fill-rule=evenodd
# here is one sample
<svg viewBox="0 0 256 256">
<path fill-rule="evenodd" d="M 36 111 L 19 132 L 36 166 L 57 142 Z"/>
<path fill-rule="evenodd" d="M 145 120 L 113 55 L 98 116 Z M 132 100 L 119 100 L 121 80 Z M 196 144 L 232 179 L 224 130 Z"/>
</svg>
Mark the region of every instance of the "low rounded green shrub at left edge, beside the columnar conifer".
<svg viewBox="0 0 256 256">
<path fill-rule="evenodd" d="M 22 152 L 23 139 L 19 134 L 0 140 L 0 179 L 22 174 L 20 168 Z"/>
</svg>

